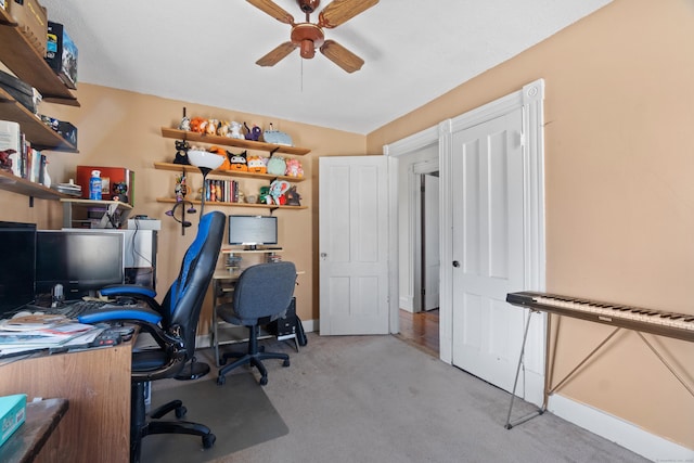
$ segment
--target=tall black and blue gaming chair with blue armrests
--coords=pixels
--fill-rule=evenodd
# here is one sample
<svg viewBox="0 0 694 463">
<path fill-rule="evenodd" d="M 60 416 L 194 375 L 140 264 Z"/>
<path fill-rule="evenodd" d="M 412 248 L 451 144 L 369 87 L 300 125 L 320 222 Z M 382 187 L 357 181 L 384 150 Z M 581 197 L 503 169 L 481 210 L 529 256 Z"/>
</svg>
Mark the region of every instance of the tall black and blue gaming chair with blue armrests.
<svg viewBox="0 0 694 463">
<path fill-rule="evenodd" d="M 85 323 L 126 322 L 152 335 L 159 348 L 132 353 L 132 387 L 130 417 L 130 461 L 140 461 L 141 442 L 150 434 L 191 434 L 202 436 L 203 447 L 215 445 L 216 437 L 207 426 L 185 421 L 146 421 L 144 404 L 145 383 L 175 377 L 195 351 L 195 332 L 200 311 L 211 281 L 221 240 L 226 216 L 214 211 L 201 218 L 197 235 L 183 257 L 181 270 L 162 304 L 154 299 L 156 293 L 144 286 L 113 285 L 101 294 L 106 297 L 129 297 L 146 303 L 150 308 L 116 310 L 82 316 Z M 185 415 L 180 400 L 166 403 L 150 413 L 151 419 L 176 411 L 176 416 Z"/>
</svg>

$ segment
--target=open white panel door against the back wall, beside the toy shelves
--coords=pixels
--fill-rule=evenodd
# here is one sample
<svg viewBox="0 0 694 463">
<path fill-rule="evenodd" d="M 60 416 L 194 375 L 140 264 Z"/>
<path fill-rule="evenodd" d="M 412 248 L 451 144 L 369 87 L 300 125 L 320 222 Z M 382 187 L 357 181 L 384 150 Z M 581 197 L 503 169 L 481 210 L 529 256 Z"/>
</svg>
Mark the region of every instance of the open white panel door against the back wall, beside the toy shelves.
<svg viewBox="0 0 694 463">
<path fill-rule="evenodd" d="M 388 162 L 319 158 L 321 335 L 388 333 Z"/>
</svg>

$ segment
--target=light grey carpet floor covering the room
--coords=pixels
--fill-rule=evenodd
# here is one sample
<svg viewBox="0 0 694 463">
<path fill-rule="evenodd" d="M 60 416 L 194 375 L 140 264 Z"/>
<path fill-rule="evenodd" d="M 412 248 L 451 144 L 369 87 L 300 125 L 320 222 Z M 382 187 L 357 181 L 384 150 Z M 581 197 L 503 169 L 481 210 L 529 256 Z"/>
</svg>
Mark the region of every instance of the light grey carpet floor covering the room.
<svg viewBox="0 0 694 463">
<path fill-rule="evenodd" d="M 207 424 L 218 436 L 216 447 L 221 445 L 220 436 L 231 429 L 235 429 L 231 434 L 236 434 L 244 427 L 256 426 L 260 435 L 234 436 L 245 442 L 234 445 L 229 453 L 215 448 L 214 454 L 202 450 L 198 438 L 165 436 L 177 443 L 190 441 L 185 450 L 176 452 L 179 460 L 167 461 L 202 462 L 213 458 L 217 463 L 648 461 L 551 413 L 505 429 L 507 393 L 395 336 L 322 337 L 309 333 L 308 345 L 300 352 L 287 343 L 262 344 L 267 350 L 290 353 L 292 365 L 282 368 L 281 361 L 266 361 L 269 383 L 264 387 L 257 385 L 257 371 L 247 368 L 227 375 L 226 385 L 217 386 L 211 351 L 202 349 L 198 358 L 208 362 L 213 372 L 198 381 L 206 389 L 193 394 L 187 402 L 189 419 Z M 242 378 L 241 389 L 255 393 L 243 399 L 234 386 Z M 164 383 L 162 388 L 170 388 L 171 397 L 179 397 L 182 387 L 197 387 L 196 383 L 181 386 L 189 382 L 155 382 L 153 400 L 155 397 L 160 400 L 157 383 Z M 229 390 L 228 402 L 216 398 L 219 390 Z M 268 400 L 272 411 L 267 412 L 268 403 L 264 400 Z M 518 400 L 514 416 L 532 410 L 534 407 Z M 146 437 L 145 447 L 168 445 L 152 443 L 151 439 L 159 437 Z"/>
</svg>

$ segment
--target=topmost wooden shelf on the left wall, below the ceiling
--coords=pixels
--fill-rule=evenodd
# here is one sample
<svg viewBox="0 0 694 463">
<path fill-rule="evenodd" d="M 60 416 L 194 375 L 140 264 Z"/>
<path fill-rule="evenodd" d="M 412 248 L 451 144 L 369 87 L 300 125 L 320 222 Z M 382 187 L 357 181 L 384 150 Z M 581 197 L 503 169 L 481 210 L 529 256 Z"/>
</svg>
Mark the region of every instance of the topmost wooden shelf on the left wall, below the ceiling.
<svg viewBox="0 0 694 463">
<path fill-rule="evenodd" d="M 0 9 L 0 61 L 20 79 L 35 87 L 43 97 L 43 101 L 79 106 L 70 89 L 57 77 L 3 9 Z"/>
</svg>

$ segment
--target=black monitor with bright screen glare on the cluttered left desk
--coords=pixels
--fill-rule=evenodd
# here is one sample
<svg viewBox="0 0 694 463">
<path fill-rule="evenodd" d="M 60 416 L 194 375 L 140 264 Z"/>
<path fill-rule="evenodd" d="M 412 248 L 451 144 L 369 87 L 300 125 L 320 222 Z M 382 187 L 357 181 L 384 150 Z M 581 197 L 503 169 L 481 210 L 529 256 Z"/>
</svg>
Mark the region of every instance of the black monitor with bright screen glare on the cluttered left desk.
<svg viewBox="0 0 694 463">
<path fill-rule="evenodd" d="M 36 292 L 51 294 L 63 285 L 68 300 L 93 296 L 108 284 L 124 282 L 121 233 L 39 230 L 36 234 Z"/>
</svg>

